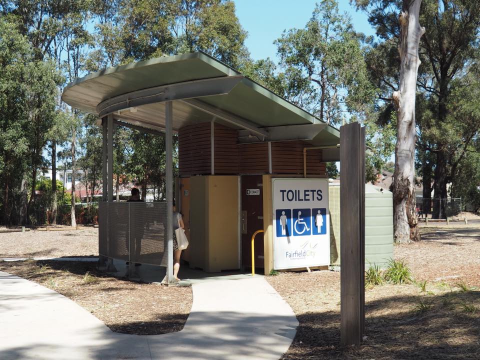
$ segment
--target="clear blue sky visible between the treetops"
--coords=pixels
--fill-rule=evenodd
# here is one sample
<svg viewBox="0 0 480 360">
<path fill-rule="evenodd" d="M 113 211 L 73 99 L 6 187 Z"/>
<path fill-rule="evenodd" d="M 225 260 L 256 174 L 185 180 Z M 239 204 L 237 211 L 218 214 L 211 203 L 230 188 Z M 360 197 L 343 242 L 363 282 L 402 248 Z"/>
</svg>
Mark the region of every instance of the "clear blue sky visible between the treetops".
<svg viewBox="0 0 480 360">
<path fill-rule="evenodd" d="M 235 0 L 236 16 L 248 31 L 245 41 L 251 57 L 255 60 L 276 58 L 273 41 L 283 30 L 302 28 L 311 17 L 314 0 Z M 355 31 L 374 35 L 365 13 L 356 11 L 348 0 L 338 0 L 341 12 L 350 15 Z"/>
</svg>

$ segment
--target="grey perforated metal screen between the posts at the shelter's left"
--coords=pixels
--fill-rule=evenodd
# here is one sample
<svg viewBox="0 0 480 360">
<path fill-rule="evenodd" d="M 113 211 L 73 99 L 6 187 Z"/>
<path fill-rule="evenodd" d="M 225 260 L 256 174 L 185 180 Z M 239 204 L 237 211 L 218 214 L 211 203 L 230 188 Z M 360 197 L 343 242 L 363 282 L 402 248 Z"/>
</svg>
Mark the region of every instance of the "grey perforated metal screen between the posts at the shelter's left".
<svg viewBox="0 0 480 360">
<path fill-rule="evenodd" d="M 166 266 L 166 202 L 100 202 L 98 215 L 100 255 Z"/>
</svg>

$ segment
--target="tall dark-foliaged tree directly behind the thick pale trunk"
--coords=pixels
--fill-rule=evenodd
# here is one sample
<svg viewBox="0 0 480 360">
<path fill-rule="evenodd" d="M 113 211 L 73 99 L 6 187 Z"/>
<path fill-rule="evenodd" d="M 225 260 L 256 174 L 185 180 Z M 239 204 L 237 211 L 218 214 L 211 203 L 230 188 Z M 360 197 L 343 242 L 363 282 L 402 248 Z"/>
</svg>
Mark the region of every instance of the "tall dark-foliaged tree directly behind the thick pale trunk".
<svg viewBox="0 0 480 360">
<path fill-rule="evenodd" d="M 372 75 L 382 84 L 380 98 L 388 101 L 388 91 L 395 90 L 399 56 L 396 52 L 398 24 L 396 14 L 401 1 L 357 0 L 357 5 L 368 11 L 369 22 L 377 29 L 380 41 L 370 57 Z M 461 126 L 449 106 L 451 91 L 463 79 L 472 64 L 478 61 L 480 29 L 480 2 L 476 0 L 423 0 L 420 22 L 426 27 L 421 37 L 417 88 L 421 94 L 418 115 L 417 150 L 423 178 L 423 197 L 430 198 L 430 178 L 433 178 L 434 196 L 447 197 L 447 183 L 453 182 L 461 165 L 463 148 L 473 141 L 472 128 Z M 376 55 L 376 56 L 374 56 Z M 395 65 L 398 64 L 398 65 Z M 468 81 L 463 86 L 469 88 Z M 471 87 L 470 87 L 471 88 Z M 420 103 L 419 103 L 420 105 Z M 460 140 L 460 142 L 458 142 Z M 428 200 L 425 202 L 429 202 Z M 444 214 L 435 202 L 433 216 Z"/>
</svg>

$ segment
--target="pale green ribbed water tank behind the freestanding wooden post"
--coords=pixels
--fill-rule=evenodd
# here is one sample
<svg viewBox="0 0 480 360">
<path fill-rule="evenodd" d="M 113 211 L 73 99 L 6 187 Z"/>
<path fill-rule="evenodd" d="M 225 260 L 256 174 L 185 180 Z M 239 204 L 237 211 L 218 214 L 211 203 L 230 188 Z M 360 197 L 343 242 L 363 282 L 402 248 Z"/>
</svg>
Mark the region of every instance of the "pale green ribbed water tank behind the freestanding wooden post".
<svg viewBox="0 0 480 360">
<path fill-rule="evenodd" d="M 393 257 L 393 199 L 386 189 L 365 184 L 365 269 L 385 268 Z M 330 263 L 340 265 L 340 186 L 328 188 Z"/>
</svg>

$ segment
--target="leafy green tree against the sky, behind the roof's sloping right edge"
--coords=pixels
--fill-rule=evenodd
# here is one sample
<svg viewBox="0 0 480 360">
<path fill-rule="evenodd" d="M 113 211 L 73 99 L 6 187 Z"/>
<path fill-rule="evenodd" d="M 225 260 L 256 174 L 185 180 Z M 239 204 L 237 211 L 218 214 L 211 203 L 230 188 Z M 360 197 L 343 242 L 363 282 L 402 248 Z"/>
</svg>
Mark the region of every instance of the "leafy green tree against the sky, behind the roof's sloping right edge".
<svg viewBox="0 0 480 360">
<path fill-rule="evenodd" d="M 366 179 L 374 180 L 391 154 L 392 132 L 378 134 L 375 88 L 365 66 L 367 38 L 353 31 L 335 0 L 320 1 L 304 28 L 284 31 L 275 43 L 278 66 L 271 60 L 249 62 L 247 75 L 332 125 L 361 121 L 366 126 Z M 328 163 L 334 174 L 336 165 Z M 329 172 L 330 172 L 329 170 Z"/>
</svg>

